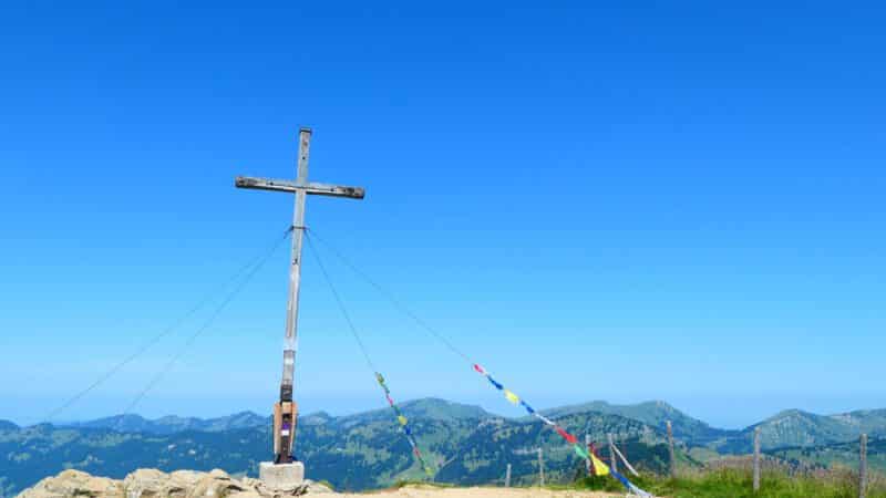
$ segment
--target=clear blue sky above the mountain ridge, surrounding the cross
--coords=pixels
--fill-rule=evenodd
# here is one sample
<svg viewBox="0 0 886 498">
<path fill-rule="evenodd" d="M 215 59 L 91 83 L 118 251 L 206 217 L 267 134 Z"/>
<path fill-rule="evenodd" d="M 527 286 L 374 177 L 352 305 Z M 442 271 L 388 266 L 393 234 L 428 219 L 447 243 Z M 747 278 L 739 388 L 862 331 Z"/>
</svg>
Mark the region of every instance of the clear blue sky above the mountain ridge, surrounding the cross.
<svg viewBox="0 0 886 498">
<path fill-rule="evenodd" d="M 16 4 L 18 3 L 18 4 Z M 0 418 L 34 422 L 308 224 L 538 407 L 886 406 L 878 2 L 4 2 Z M 298 3 L 298 6 L 296 6 Z M 400 400 L 517 415 L 326 257 Z M 267 412 L 286 251 L 136 408 Z M 384 401 L 312 260 L 305 411 Z M 205 315 L 205 314 L 204 314 Z M 60 418 L 121 412 L 187 334 Z"/>
</svg>

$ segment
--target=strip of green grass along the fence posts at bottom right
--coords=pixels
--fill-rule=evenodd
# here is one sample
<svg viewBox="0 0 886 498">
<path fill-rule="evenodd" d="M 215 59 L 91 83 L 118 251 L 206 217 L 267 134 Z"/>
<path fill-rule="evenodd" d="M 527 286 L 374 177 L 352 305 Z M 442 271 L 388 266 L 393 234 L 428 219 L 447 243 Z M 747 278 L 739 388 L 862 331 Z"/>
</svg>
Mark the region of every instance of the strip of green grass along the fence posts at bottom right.
<svg viewBox="0 0 886 498">
<path fill-rule="evenodd" d="M 858 483 L 854 473 L 830 471 L 792 477 L 784 473 L 764 473 L 760 491 L 753 491 L 751 473 L 720 469 L 698 473 L 677 479 L 660 477 L 631 478 L 647 491 L 669 498 L 857 498 Z M 578 488 L 622 491 L 609 477 L 589 477 L 576 483 Z M 886 498 L 886 483 L 874 477 L 867 498 Z"/>
</svg>

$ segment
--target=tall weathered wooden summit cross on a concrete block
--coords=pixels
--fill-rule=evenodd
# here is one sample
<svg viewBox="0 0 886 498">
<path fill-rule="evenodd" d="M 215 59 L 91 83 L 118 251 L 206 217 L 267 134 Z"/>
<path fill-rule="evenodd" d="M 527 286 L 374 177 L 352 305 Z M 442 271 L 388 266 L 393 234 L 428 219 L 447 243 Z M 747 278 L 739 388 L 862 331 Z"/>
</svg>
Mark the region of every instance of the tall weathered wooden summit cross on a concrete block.
<svg viewBox="0 0 886 498">
<path fill-rule="evenodd" d="M 238 176 L 237 188 L 287 191 L 296 195 L 292 215 L 292 259 L 289 266 L 289 300 L 286 305 L 286 342 L 284 343 L 284 376 L 280 383 L 280 402 L 274 405 L 274 463 L 292 463 L 292 442 L 296 438 L 298 406 L 292 401 L 292 377 L 296 367 L 298 334 L 298 288 L 301 278 L 301 242 L 305 236 L 305 199 L 308 195 L 362 199 L 360 187 L 344 187 L 308 181 L 310 128 L 299 131 L 298 174 L 295 181 Z"/>
</svg>

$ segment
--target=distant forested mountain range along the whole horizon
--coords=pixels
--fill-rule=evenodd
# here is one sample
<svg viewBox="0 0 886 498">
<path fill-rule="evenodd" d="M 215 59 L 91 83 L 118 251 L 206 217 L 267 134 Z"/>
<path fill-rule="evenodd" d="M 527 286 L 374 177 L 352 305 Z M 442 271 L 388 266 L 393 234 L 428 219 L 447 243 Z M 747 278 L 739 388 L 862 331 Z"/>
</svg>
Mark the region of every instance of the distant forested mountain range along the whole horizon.
<svg viewBox="0 0 886 498">
<path fill-rule="evenodd" d="M 435 398 L 401 406 L 437 469 L 439 481 L 494 483 L 503 478 L 509 463 L 515 483 L 532 483 L 537 473 L 537 447 L 544 449 L 552 481 L 570 480 L 581 473 L 583 464 L 570 448 L 534 418 L 505 418 L 477 406 Z M 608 433 L 615 434 L 627 457 L 647 471 L 667 468 L 666 421 L 671 421 L 679 443 L 680 465 L 749 453 L 755 427 L 761 428 L 764 450 L 816 465 L 843 461 L 834 457 L 841 452 L 848 458 L 851 442 L 862 432 L 872 437 L 874 465 L 880 461 L 875 452 L 886 450 L 886 443 L 878 439 L 886 437 L 886 409 L 828 416 L 787 411 L 742 430 L 711 427 L 663 402 L 590 402 L 544 413 L 574 434 L 588 434 L 598 443 L 605 442 Z M 208 419 L 126 415 L 30 427 L 0 421 L 0 498 L 64 468 L 116 478 L 143 467 L 218 467 L 256 475 L 258 463 L 269 457 L 269 426 L 268 416 L 250 412 Z M 341 489 L 375 488 L 422 476 L 387 408 L 340 417 L 322 412 L 301 416 L 296 453 L 310 477 Z"/>
</svg>

